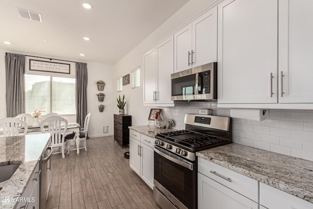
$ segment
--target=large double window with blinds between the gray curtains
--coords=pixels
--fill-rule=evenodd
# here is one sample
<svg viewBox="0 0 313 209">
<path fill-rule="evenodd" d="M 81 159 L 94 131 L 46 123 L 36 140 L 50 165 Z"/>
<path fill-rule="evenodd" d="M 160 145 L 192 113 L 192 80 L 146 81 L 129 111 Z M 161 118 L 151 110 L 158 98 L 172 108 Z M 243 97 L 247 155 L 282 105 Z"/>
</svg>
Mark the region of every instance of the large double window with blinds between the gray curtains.
<svg viewBox="0 0 313 209">
<path fill-rule="evenodd" d="M 75 78 L 25 74 L 25 113 L 75 115 Z"/>
</svg>

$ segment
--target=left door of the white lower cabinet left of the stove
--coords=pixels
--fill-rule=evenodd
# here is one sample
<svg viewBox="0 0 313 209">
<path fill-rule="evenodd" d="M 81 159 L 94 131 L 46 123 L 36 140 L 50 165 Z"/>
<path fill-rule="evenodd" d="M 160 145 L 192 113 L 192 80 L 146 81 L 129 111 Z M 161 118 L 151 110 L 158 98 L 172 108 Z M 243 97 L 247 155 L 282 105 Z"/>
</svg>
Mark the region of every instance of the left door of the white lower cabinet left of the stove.
<svg viewBox="0 0 313 209">
<path fill-rule="evenodd" d="M 129 138 L 129 165 L 130 167 L 140 176 L 140 156 L 139 156 L 139 149 L 140 149 L 140 141 L 130 137 Z"/>
</svg>

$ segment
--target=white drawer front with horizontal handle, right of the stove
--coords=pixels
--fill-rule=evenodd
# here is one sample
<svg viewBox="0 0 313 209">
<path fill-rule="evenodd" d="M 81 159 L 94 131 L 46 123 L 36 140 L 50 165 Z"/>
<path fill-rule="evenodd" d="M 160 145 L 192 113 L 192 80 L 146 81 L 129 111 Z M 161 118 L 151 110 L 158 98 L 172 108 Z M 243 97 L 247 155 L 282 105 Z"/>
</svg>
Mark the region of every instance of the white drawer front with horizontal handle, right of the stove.
<svg viewBox="0 0 313 209">
<path fill-rule="evenodd" d="M 258 181 L 203 158 L 198 158 L 198 172 L 258 202 Z M 229 178 L 230 181 L 218 175 Z"/>
</svg>

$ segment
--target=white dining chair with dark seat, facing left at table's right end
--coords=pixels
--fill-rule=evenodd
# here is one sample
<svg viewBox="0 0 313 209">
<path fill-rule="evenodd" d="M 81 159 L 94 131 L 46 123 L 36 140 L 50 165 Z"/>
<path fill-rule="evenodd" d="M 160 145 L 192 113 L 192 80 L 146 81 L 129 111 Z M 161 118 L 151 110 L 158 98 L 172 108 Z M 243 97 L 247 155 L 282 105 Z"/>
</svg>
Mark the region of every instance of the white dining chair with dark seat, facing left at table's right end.
<svg viewBox="0 0 313 209">
<path fill-rule="evenodd" d="M 85 148 L 85 151 L 87 151 L 86 146 L 86 139 L 88 134 L 88 127 L 89 127 L 89 120 L 90 120 L 91 113 L 89 113 L 84 122 L 84 127 L 81 128 L 79 134 L 69 134 L 67 135 L 67 154 L 69 154 L 70 150 L 77 150 L 77 155 L 79 154 L 79 149 Z M 79 139 L 78 139 L 79 138 Z M 70 143 L 72 141 L 75 141 L 75 149 L 70 149 Z M 80 142 L 83 141 L 83 146 L 80 147 Z"/>
</svg>

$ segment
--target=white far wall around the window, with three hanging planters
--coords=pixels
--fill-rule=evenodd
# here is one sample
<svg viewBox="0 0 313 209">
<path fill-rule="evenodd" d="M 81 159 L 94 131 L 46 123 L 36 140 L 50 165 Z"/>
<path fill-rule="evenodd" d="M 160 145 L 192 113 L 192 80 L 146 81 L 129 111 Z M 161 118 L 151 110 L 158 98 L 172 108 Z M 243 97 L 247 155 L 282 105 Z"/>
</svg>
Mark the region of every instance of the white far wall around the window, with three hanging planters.
<svg viewBox="0 0 313 209">
<path fill-rule="evenodd" d="M 5 52 L 11 53 L 19 53 L 25 55 L 39 56 L 39 57 L 47 57 L 52 59 L 61 59 L 62 57 L 49 57 L 38 54 L 30 54 L 23 52 L 14 52 L 0 49 L 0 55 L 2 59 L 0 59 L 0 118 L 6 117 L 6 103 L 5 103 L 5 64 L 4 64 L 4 56 Z M 68 59 L 65 59 L 68 60 Z M 77 60 L 68 60 L 68 61 L 77 61 Z M 81 61 L 77 61 L 81 62 Z M 86 62 L 88 68 L 88 85 L 87 85 L 87 93 L 88 93 L 88 102 L 87 102 L 87 111 L 91 113 L 90 122 L 89 122 L 89 137 L 99 137 L 99 136 L 107 136 L 113 135 L 113 104 L 114 104 L 114 79 L 113 79 L 113 66 L 100 64 L 100 63 L 91 63 Z M 71 68 L 72 70 L 72 68 Z M 104 91 L 105 99 L 103 103 L 98 102 L 98 98 L 95 95 L 99 93 L 97 90 L 97 86 L 95 81 L 103 80 L 106 83 Z M 99 112 L 98 105 L 105 105 L 105 110 L 103 113 Z M 76 116 L 65 116 L 68 122 L 75 122 Z M 109 126 L 109 133 L 103 134 L 103 126 Z"/>
</svg>

